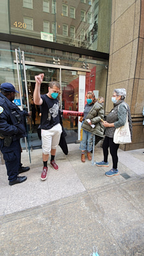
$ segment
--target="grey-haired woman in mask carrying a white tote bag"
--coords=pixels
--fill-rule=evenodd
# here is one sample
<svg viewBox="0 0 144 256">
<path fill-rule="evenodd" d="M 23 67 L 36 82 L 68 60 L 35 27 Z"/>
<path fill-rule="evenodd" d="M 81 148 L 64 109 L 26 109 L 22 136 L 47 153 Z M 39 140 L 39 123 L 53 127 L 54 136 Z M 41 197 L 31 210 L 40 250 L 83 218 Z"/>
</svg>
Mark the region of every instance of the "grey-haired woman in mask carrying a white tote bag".
<svg viewBox="0 0 144 256">
<path fill-rule="evenodd" d="M 132 121 L 131 112 L 127 103 L 124 102 L 126 96 L 125 88 L 115 89 L 111 100 L 113 109 L 111 109 L 106 121 L 102 124 L 106 127 L 105 138 L 102 144 L 104 161 L 96 162 L 97 166 L 108 167 L 108 148 L 113 160 L 113 168 L 106 172 L 106 176 L 112 177 L 119 175 L 118 165 L 118 147 L 120 144 L 131 143 L 132 140 Z"/>
</svg>

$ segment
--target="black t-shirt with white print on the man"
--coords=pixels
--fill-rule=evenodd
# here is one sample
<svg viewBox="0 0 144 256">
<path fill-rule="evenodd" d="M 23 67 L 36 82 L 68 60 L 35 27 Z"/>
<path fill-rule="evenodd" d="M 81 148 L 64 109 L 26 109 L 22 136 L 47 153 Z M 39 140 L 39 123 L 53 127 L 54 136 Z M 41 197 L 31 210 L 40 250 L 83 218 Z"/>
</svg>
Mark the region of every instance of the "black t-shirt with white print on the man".
<svg viewBox="0 0 144 256">
<path fill-rule="evenodd" d="M 40 127 L 44 130 L 51 129 L 54 125 L 60 124 L 60 118 L 58 115 L 58 99 L 51 99 L 45 95 L 41 95 L 43 100 L 40 110 L 42 113 Z"/>
</svg>

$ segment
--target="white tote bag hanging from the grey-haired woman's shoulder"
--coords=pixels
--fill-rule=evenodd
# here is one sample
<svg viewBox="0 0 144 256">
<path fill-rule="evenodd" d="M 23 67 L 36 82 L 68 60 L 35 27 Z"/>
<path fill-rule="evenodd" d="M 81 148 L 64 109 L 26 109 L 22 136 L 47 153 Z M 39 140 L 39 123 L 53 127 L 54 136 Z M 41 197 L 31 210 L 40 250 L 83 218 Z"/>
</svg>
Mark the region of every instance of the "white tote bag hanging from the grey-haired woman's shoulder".
<svg viewBox="0 0 144 256">
<path fill-rule="evenodd" d="M 127 107 L 126 104 L 125 106 Z M 128 113 L 125 125 L 115 129 L 113 142 L 115 142 L 116 144 L 131 143 L 131 132 L 129 130 Z"/>
</svg>

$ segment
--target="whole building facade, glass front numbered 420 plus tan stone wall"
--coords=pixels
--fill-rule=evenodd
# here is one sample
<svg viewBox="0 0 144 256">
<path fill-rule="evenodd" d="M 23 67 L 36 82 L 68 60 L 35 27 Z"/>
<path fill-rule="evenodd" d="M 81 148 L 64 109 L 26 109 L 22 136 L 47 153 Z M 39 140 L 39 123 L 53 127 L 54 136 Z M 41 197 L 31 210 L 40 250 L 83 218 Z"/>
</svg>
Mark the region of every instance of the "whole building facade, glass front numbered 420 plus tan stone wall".
<svg viewBox="0 0 144 256">
<path fill-rule="evenodd" d="M 21 108 L 30 108 L 41 72 L 41 93 L 50 81 L 59 81 L 60 108 L 66 110 L 83 111 L 86 92 L 94 90 L 106 98 L 108 114 L 113 89 L 124 87 L 134 135 L 122 149 L 144 147 L 142 0 L 1 0 L 0 7 L 0 83 L 21 90 Z M 63 118 L 63 124 L 67 142 L 79 140 L 77 118 Z M 28 125 L 31 147 L 37 146 L 33 122 Z"/>
</svg>

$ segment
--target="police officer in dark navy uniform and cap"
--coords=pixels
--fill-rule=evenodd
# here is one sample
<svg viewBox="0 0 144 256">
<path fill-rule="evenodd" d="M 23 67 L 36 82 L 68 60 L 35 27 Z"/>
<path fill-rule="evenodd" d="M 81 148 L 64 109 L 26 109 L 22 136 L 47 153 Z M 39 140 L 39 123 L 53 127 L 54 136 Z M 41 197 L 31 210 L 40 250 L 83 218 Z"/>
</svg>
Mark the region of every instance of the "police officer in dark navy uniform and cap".
<svg viewBox="0 0 144 256">
<path fill-rule="evenodd" d="M 12 102 L 15 99 L 15 87 L 11 83 L 1 84 L 0 92 L 0 150 L 5 160 L 9 185 L 24 182 L 27 177 L 19 173 L 27 172 L 29 167 L 20 163 L 20 138 L 26 137 L 24 116 L 31 113 L 20 111 Z M 19 92 L 17 92 L 19 93 Z"/>
</svg>

